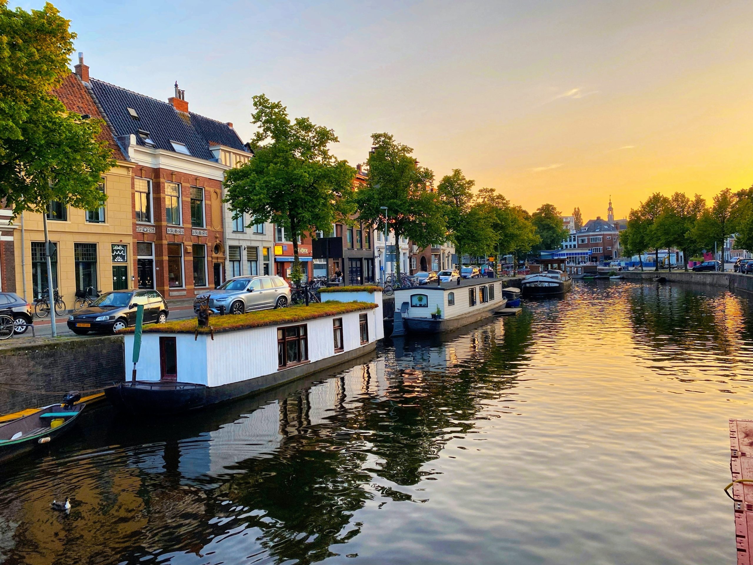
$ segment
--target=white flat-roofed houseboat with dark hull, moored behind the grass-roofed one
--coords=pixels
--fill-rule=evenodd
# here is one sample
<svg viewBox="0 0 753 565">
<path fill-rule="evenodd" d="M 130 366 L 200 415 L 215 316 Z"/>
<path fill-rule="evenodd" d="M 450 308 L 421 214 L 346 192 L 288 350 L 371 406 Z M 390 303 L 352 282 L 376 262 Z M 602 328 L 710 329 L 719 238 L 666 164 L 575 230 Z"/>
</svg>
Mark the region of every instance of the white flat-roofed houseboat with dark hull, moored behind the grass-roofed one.
<svg viewBox="0 0 753 565">
<path fill-rule="evenodd" d="M 463 279 L 395 290 L 395 325 L 409 334 L 436 334 L 491 316 L 505 307 L 499 279 Z M 396 328 L 393 335 L 401 332 Z"/>
</svg>

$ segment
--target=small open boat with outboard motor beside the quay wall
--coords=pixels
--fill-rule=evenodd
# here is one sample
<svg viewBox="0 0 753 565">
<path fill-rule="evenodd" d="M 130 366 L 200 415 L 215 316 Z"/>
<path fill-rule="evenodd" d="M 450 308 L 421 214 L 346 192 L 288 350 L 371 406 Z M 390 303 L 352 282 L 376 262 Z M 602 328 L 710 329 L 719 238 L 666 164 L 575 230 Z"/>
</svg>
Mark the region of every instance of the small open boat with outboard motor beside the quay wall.
<svg viewBox="0 0 753 565">
<path fill-rule="evenodd" d="M 27 454 L 71 429 L 72 422 L 86 407 L 75 404 L 79 400 L 80 394 L 69 393 L 62 404 L 46 406 L 0 426 L 0 463 Z"/>
</svg>

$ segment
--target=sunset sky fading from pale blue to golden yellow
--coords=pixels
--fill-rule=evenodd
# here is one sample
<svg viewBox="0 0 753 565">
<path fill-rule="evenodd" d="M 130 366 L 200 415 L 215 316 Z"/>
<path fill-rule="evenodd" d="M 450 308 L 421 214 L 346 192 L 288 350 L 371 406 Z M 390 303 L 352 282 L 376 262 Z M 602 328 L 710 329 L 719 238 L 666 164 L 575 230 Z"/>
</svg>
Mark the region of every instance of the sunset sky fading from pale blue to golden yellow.
<svg viewBox="0 0 753 565">
<path fill-rule="evenodd" d="M 20 2 L 38 8 L 41 2 Z M 266 93 L 533 211 L 753 184 L 753 2 L 53 2 L 91 75 L 232 121 Z"/>
</svg>

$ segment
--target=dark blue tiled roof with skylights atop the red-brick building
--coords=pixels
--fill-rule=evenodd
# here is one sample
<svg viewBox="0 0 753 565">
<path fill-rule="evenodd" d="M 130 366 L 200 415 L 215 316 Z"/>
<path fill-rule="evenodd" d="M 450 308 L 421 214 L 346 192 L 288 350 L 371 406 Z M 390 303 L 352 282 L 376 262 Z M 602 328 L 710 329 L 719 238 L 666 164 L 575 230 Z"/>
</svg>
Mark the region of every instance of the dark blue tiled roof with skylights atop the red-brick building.
<svg viewBox="0 0 753 565">
<path fill-rule="evenodd" d="M 193 157 L 215 160 L 209 145 L 227 145 L 245 151 L 233 128 L 227 124 L 189 113 L 176 111 L 169 102 L 162 102 L 114 84 L 90 79 L 94 96 L 102 106 L 115 135 L 136 135 L 138 145 L 146 145 L 139 130 L 149 133 L 154 146 L 175 151 L 171 141 L 184 144 Z M 138 118 L 131 117 L 128 108 L 136 110 Z M 215 139 L 216 138 L 216 139 Z"/>
</svg>

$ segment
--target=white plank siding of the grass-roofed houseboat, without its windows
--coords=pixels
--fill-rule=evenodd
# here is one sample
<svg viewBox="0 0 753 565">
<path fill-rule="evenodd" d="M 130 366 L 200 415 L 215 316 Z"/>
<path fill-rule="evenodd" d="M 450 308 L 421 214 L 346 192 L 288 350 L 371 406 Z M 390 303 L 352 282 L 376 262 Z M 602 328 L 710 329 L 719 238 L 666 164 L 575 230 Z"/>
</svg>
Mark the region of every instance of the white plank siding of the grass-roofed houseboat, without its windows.
<svg viewBox="0 0 753 565">
<path fill-rule="evenodd" d="M 210 387 L 239 383 L 245 380 L 275 374 L 277 365 L 277 329 L 292 325 L 306 325 L 308 335 L 309 362 L 322 359 L 346 357 L 346 353 L 363 346 L 360 338 L 360 315 L 367 315 L 368 343 L 377 341 L 374 310 L 361 310 L 337 316 L 309 319 L 306 322 L 270 325 L 262 328 L 248 328 L 236 331 L 215 333 L 214 340 L 207 334 L 200 334 L 194 340 L 193 334 L 145 333 L 142 335 L 142 348 L 139 363 L 136 365 L 137 379 L 140 381 L 160 380 L 160 337 L 175 337 L 177 349 L 178 375 L 181 383 L 196 383 Z M 333 319 L 343 319 L 344 350 L 334 352 Z M 133 334 L 125 337 L 126 380 L 131 378 L 133 356 Z M 332 365 L 337 361 L 332 359 Z M 302 365 L 297 365 L 302 366 Z"/>
</svg>

